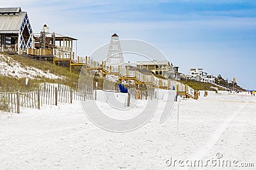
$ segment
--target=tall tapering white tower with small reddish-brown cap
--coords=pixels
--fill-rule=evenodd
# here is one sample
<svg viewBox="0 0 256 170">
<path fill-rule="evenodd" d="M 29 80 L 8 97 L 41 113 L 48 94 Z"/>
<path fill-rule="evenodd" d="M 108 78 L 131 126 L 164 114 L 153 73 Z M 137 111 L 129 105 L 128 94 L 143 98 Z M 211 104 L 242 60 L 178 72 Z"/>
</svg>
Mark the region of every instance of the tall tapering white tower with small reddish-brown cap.
<svg viewBox="0 0 256 170">
<path fill-rule="evenodd" d="M 117 66 L 124 62 L 124 57 L 122 53 L 122 48 L 120 45 L 119 37 L 116 34 L 111 36 L 108 57 L 106 59 L 106 66 Z"/>
</svg>

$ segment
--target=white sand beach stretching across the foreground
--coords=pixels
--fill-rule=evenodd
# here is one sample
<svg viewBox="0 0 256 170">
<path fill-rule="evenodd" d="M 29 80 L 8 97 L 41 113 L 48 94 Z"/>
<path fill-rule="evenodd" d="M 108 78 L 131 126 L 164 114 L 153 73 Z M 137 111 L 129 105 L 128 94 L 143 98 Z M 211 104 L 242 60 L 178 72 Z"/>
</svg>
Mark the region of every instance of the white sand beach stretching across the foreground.
<svg viewBox="0 0 256 170">
<path fill-rule="evenodd" d="M 139 101 L 131 115 L 145 102 Z M 98 104 L 109 115 L 115 111 L 106 103 Z M 170 157 L 206 161 L 216 159 L 216 153 L 223 159 L 253 162 L 256 167 L 255 96 L 182 99 L 178 133 L 177 103 L 172 115 L 159 124 L 161 104 L 147 124 L 126 133 L 100 129 L 78 102 L 41 110 L 21 108 L 20 114 L 1 113 L 1 169 L 179 169 L 166 166 L 166 161 Z M 199 167 L 217 168 L 241 169 Z"/>
</svg>

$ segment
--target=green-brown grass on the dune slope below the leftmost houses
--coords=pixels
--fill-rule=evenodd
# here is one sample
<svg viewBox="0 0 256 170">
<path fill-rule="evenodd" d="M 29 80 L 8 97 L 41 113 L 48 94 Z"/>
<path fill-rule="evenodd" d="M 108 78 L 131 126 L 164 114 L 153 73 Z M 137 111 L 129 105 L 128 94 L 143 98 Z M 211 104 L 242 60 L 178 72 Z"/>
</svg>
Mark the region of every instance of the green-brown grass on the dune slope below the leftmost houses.
<svg viewBox="0 0 256 170">
<path fill-rule="evenodd" d="M 67 85 L 68 87 L 72 87 L 72 89 L 78 88 L 78 81 L 79 81 L 79 74 L 81 71 L 81 67 L 76 67 L 74 72 L 70 72 L 69 67 L 64 66 L 54 66 L 52 62 L 45 61 L 45 60 L 35 60 L 30 59 L 29 57 L 22 57 L 20 55 L 8 55 L 4 53 L 4 55 L 10 57 L 12 60 L 15 60 L 16 62 L 19 62 L 22 67 L 36 67 L 37 69 L 41 69 L 45 73 L 52 73 L 57 76 L 60 76 L 60 79 L 49 79 L 45 77 L 41 78 L 35 78 L 35 79 L 29 79 L 29 87 L 26 85 L 26 78 L 15 78 L 11 76 L 3 76 L 0 75 L 0 90 L 5 91 L 17 91 L 17 90 L 35 90 L 37 89 L 40 84 L 46 82 L 46 83 L 60 83 L 62 85 Z M 12 60 L 10 62 L 12 62 Z M 102 78 L 99 78 L 95 76 L 93 78 L 93 81 L 97 81 L 99 83 L 99 87 L 103 86 L 103 83 L 108 80 L 103 80 Z M 86 83 L 86 80 L 84 80 L 84 83 Z M 107 83 L 113 83 L 111 81 L 108 81 Z"/>
</svg>

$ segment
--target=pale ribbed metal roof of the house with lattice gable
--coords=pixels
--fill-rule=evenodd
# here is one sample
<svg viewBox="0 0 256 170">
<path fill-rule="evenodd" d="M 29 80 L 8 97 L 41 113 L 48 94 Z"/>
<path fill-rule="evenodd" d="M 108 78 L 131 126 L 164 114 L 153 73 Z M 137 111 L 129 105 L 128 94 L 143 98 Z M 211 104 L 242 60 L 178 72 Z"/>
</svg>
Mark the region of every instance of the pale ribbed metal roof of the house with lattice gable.
<svg viewBox="0 0 256 170">
<path fill-rule="evenodd" d="M 0 15 L 0 33 L 19 33 L 26 12 L 19 15 Z"/>
</svg>

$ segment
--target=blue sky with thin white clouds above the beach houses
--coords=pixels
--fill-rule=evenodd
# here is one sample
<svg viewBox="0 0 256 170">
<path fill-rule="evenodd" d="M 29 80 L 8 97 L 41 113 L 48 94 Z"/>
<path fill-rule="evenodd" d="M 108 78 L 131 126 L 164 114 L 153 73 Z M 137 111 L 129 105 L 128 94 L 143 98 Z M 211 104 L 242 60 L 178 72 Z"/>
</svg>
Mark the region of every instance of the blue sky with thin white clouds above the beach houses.
<svg viewBox="0 0 256 170">
<path fill-rule="evenodd" d="M 256 89 L 256 1 L 4 1 L 28 11 L 34 32 L 73 36 L 77 54 L 89 55 L 121 39 L 151 43 L 180 66 L 182 73 L 203 67 L 207 73 Z"/>
</svg>

